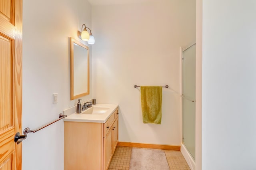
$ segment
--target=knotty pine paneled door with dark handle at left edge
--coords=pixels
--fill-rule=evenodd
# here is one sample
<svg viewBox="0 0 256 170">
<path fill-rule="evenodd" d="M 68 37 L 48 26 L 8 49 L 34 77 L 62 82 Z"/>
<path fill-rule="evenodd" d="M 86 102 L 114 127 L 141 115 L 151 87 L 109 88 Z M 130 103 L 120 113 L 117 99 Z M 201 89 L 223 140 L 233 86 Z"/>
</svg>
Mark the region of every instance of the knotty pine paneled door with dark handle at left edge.
<svg viewBox="0 0 256 170">
<path fill-rule="evenodd" d="M 0 0 L 0 170 L 22 169 L 22 0 Z"/>
</svg>

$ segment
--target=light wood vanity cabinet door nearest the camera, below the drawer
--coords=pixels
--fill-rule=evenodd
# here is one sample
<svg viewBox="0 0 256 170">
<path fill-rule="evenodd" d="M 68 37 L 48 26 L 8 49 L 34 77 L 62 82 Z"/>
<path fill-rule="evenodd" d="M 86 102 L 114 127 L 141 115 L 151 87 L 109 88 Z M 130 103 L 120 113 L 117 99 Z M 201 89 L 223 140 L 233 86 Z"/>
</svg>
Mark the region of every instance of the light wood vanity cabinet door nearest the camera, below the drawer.
<svg viewBox="0 0 256 170">
<path fill-rule="evenodd" d="M 110 158 L 112 155 L 112 130 L 109 130 L 106 136 L 104 137 L 104 169 L 108 167 L 108 164 L 110 163 Z"/>
</svg>

